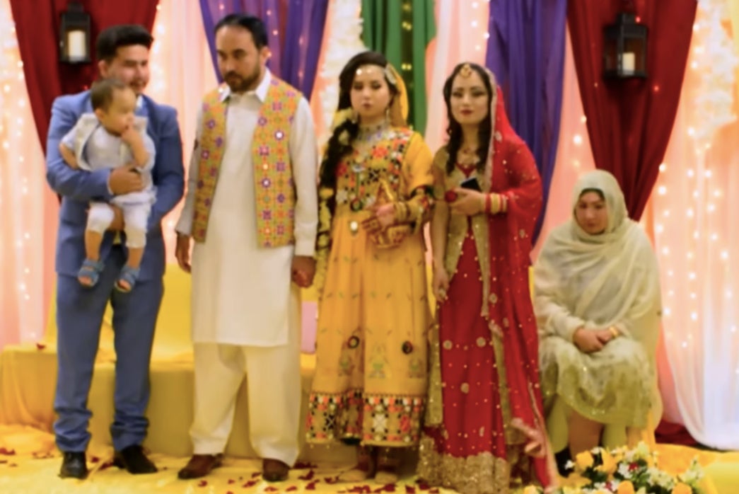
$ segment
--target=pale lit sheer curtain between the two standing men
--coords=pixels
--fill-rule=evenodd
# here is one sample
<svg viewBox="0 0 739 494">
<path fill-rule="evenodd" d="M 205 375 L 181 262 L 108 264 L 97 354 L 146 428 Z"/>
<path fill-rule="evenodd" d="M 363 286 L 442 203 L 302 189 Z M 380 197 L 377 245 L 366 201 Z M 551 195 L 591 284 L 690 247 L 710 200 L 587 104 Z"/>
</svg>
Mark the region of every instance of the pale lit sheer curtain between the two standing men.
<svg viewBox="0 0 739 494">
<path fill-rule="evenodd" d="M 193 149 L 197 109 L 205 92 L 216 87 L 216 72 L 203 32 L 200 2 L 161 0 L 152 29 L 151 80 L 146 94 L 159 103 L 174 106 L 183 138 L 185 173 Z M 174 224 L 182 203 L 162 223 L 167 260 L 174 259 Z"/>
</svg>

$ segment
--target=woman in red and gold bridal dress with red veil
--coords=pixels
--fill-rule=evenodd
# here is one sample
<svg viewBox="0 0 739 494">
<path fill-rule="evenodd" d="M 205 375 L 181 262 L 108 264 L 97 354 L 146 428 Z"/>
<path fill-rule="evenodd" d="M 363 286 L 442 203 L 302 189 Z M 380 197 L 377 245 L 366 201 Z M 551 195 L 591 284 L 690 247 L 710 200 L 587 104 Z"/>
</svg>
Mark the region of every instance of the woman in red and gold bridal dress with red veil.
<svg viewBox="0 0 739 494">
<path fill-rule="evenodd" d="M 542 205 L 534 157 L 494 75 L 459 64 L 443 89 L 449 143 L 435 157 L 429 401 L 419 476 L 464 494 L 550 490 L 528 271 Z"/>
</svg>

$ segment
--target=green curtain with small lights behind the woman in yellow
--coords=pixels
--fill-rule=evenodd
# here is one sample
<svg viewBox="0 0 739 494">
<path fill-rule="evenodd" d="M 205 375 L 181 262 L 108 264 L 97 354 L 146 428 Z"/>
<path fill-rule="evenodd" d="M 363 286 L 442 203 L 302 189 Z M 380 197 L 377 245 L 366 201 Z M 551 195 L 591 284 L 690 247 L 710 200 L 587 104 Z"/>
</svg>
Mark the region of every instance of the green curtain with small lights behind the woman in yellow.
<svg viewBox="0 0 739 494">
<path fill-rule="evenodd" d="M 434 0 L 362 0 L 362 40 L 384 53 L 408 88 L 408 123 L 426 130 L 426 46 L 436 35 Z"/>
</svg>

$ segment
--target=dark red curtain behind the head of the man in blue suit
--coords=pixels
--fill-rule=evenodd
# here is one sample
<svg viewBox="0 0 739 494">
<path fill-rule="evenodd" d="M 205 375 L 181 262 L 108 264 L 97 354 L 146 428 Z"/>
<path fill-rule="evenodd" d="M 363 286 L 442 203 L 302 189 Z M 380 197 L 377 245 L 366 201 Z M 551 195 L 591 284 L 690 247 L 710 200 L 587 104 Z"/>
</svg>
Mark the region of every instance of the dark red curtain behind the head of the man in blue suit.
<svg viewBox="0 0 739 494">
<path fill-rule="evenodd" d="M 141 24 L 151 30 L 158 0 L 82 0 L 92 17 L 90 64 L 62 64 L 59 60 L 59 24 L 68 0 L 10 0 L 16 23 L 28 96 L 36 132 L 46 152 L 51 105 L 58 95 L 80 92 L 98 75 L 95 39 L 114 24 Z"/>
</svg>

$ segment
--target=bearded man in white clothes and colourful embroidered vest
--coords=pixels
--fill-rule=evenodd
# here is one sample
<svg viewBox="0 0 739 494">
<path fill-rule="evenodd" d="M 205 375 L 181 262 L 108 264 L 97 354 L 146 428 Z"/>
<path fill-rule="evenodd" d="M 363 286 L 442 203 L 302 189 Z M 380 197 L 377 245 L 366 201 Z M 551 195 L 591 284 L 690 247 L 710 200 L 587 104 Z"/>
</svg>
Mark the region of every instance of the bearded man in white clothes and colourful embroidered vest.
<svg viewBox="0 0 739 494">
<path fill-rule="evenodd" d="M 265 480 L 282 481 L 298 456 L 299 287 L 315 271 L 316 135 L 305 98 L 266 67 L 259 18 L 226 16 L 215 38 L 225 85 L 202 101 L 177 223 L 177 262 L 192 274 L 195 366 L 194 455 L 178 476 L 221 464 L 246 375 L 251 444 Z"/>
</svg>

